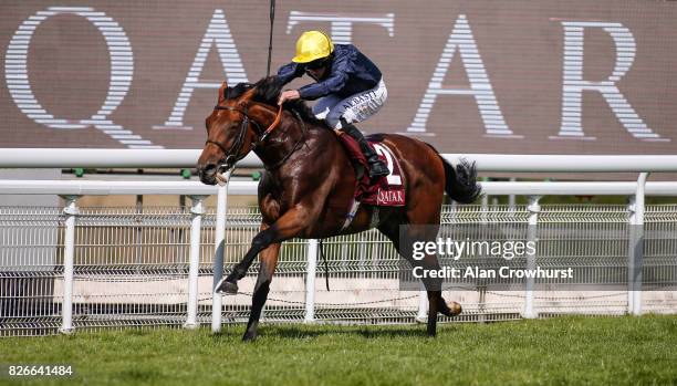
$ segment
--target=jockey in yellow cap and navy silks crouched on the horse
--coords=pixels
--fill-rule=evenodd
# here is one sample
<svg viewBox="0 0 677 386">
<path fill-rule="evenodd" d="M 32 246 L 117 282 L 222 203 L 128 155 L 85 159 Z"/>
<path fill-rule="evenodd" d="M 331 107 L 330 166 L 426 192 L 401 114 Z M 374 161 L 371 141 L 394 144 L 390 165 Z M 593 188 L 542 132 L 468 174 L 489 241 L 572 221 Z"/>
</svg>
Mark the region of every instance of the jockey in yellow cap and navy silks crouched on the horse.
<svg viewBox="0 0 677 386">
<path fill-rule="evenodd" d="M 371 178 L 387 176 L 388 168 L 353 125 L 374 115 L 386 101 L 378 67 L 353 44 L 333 44 L 324 32 L 308 31 L 296 41 L 296 56 L 278 70 L 278 76 L 288 84 L 304 73 L 316 83 L 282 92 L 278 104 L 320 98 L 313 114 L 357 140 L 369 164 Z"/>
</svg>

